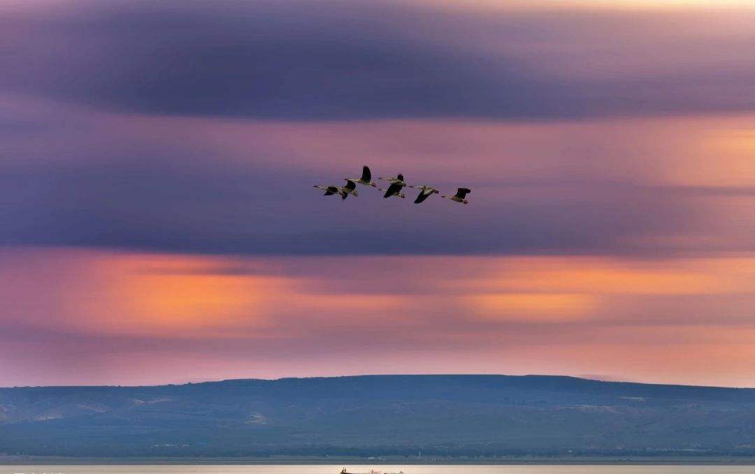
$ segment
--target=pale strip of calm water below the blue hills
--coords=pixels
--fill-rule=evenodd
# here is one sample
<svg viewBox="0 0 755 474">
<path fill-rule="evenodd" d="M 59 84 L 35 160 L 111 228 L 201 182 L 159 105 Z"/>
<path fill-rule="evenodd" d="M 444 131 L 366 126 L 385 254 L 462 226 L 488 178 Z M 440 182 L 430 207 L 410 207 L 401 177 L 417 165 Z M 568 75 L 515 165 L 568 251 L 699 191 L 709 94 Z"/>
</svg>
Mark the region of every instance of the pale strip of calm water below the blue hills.
<svg viewBox="0 0 755 474">
<path fill-rule="evenodd" d="M 0 474 L 338 474 L 338 466 L 0 466 Z M 743 474 L 755 466 L 347 466 L 405 474 Z"/>
</svg>

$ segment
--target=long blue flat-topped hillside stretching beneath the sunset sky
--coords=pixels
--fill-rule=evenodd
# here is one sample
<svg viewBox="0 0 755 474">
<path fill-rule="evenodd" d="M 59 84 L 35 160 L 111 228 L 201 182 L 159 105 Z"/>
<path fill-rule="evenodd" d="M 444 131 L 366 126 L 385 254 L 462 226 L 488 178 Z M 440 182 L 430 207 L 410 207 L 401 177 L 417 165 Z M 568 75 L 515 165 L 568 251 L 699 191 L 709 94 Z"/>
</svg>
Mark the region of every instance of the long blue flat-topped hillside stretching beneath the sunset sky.
<svg viewBox="0 0 755 474">
<path fill-rule="evenodd" d="M 755 454 L 755 389 L 396 375 L 0 389 L 0 454 Z"/>
</svg>

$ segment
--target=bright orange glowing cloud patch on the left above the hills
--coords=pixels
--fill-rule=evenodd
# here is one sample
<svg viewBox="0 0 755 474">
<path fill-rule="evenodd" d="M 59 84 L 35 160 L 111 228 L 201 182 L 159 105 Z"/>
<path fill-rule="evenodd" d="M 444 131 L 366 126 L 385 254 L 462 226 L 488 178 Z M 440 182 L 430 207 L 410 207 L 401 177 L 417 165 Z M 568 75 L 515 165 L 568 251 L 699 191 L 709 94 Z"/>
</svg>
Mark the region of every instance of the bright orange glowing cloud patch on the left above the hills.
<svg viewBox="0 0 755 474">
<path fill-rule="evenodd" d="M 269 323 L 266 304 L 293 281 L 225 274 L 225 258 L 94 252 L 61 295 L 79 330 L 153 337 L 250 335 Z"/>
</svg>

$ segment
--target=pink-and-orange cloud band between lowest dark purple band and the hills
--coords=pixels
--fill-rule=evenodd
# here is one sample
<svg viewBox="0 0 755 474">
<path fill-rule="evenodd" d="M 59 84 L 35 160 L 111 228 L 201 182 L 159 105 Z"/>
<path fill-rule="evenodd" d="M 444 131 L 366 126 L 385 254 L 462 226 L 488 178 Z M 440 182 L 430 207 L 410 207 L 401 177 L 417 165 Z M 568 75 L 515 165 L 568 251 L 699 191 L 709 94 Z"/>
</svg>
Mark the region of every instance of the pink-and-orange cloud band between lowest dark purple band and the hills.
<svg viewBox="0 0 755 474">
<path fill-rule="evenodd" d="M 755 258 L 747 255 L 5 249 L 0 258 L 0 355 L 29 368 L 6 372 L 17 377 L 57 373 L 96 353 L 96 363 L 78 365 L 77 381 L 175 381 L 162 365 L 149 369 L 151 360 L 171 360 L 205 379 L 504 372 L 755 385 L 747 309 L 755 305 Z M 333 271 L 347 264 L 347 277 Z"/>
</svg>

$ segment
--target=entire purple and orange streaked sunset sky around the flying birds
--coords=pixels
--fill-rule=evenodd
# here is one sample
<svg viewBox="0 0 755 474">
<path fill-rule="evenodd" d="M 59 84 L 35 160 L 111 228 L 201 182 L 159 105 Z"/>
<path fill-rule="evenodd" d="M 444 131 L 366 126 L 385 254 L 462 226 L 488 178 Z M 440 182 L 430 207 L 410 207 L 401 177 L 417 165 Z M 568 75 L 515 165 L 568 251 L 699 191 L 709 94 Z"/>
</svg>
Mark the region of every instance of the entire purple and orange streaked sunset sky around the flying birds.
<svg viewBox="0 0 755 474">
<path fill-rule="evenodd" d="M 0 387 L 755 387 L 755 2 L 0 2 Z M 322 197 L 369 164 L 445 194 Z"/>
</svg>

